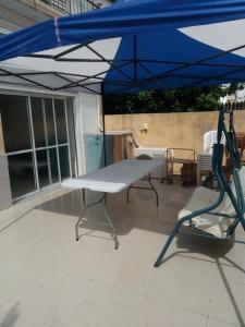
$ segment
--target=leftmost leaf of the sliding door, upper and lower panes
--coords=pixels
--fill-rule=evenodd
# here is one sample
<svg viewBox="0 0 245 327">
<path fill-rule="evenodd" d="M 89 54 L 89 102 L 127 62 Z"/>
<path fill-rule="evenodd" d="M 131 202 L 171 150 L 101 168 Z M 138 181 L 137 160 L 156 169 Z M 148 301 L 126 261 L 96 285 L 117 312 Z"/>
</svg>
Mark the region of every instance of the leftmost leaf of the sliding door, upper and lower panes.
<svg viewBox="0 0 245 327">
<path fill-rule="evenodd" d="M 0 109 L 12 196 L 19 197 L 37 190 L 28 99 L 0 95 Z"/>
</svg>

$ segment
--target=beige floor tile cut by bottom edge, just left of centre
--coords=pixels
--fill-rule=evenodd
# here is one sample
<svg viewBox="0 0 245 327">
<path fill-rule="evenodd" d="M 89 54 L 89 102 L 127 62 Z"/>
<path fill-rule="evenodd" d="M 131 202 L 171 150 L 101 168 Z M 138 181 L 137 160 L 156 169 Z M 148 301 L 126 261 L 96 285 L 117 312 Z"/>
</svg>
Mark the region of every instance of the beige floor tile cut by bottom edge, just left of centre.
<svg viewBox="0 0 245 327">
<path fill-rule="evenodd" d="M 84 322 L 94 327 L 125 327 L 140 299 L 109 284 L 95 282 L 59 319 L 69 327 L 81 327 Z"/>
</svg>

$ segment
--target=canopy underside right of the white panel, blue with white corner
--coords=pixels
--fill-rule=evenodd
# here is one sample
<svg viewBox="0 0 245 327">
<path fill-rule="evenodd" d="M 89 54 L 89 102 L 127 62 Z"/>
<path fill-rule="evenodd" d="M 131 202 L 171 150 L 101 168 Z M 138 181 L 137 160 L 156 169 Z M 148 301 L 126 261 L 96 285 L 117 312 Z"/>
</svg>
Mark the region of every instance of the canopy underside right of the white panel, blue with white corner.
<svg viewBox="0 0 245 327">
<path fill-rule="evenodd" d="M 229 32 L 228 32 L 229 31 Z M 109 71 L 111 94 L 132 90 L 205 86 L 245 81 L 245 20 L 137 34 L 122 38 L 114 61 L 127 60 L 122 70 Z"/>
</svg>

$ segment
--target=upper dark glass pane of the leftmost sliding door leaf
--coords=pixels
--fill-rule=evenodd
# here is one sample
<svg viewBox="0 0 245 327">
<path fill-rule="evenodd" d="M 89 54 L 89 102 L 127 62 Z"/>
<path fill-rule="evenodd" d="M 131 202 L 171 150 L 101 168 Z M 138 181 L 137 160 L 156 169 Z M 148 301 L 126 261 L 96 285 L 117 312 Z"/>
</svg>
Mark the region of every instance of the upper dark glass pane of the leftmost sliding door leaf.
<svg viewBox="0 0 245 327">
<path fill-rule="evenodd" d="M 32 143 L 27 97 L 0 95 L 0 112 L 5 152 L 29 149 Z"/>
</svg>

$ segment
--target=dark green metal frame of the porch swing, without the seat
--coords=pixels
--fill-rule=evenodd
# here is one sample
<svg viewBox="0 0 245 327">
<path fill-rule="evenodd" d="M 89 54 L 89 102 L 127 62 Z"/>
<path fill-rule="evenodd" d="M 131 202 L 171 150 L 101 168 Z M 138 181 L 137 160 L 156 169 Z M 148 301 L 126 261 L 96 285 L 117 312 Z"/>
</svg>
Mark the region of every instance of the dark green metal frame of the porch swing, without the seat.
<svg viewBox="0 0 245 327">
<path fill-rule="evenodd" d="M 229 119 L 229 125 L 230 125 L 229 131 L 226 130 L 226 125 L 225 125 L 225 114 L 226 113 L 230 116 L 229 117 L 230 118 Z M 192 219 L 199 215 L 203 215 L 203 214 L 216 215 L 216 216 L 220 216 L 220 217 L 223 216 L 223 217 L 233 219 L 233 222 L 228 228 L 226 238 L 224 238 L 224 239 L 219 239 L 207 232 L 198 232 L 198 233 L 195 233 L 195 235 L 200 235 L 204 238 L 217 239 L 217 240 L 229 240 L 231 242 L 237 242 L 237 243 L 245 244 L 245 242 L 237 241 L 233 238 L 235 229 L 238 223 L 242 225 L 242 227 L 245 231 L 245 218 L 244 218 L 245 201 L 244 201 L 244 192 L 243 192 L 243 187 L 242 187 L 242 183 L 241 183 L 241 179 L 240 179 L 240 170 L 242 168 L 242 165 L 241 165 L 241 156 L 240 156 L 240 152 L 237 149 L 235 130 L 234 130 L 234 124 L 233 124 L 233 109 L 231 109 L 230 111 L 226 111 L 225 106 L 223 106 L 220 109 L 217 130 L 218 130 L 217 143 L 213 145 L 213 155 L 212 155 L 212 171 L 213 171 L 213 178 L 218 182 L 219 195 L 215 199 L 213 204 L 211 204 L 210 206 L 207 206 L 199 210 L 195 210 L 192 214 L 181 218 L 175 223 L 171 234 L 169 235 L 168 241 L 163 245 L 162 251 L 160 252 L 160 254 L 154 265 L 155 267 L 159 267 L 161 265 L 162 259 L 163 259 L 169 246 L 171 245 L 174 237 L 177 233 L 183 233 L 183 231 L 181 230 L 181 227 L 183 226 L 183 223 L 188 220 L 189 225 L 193 226 Z M 224 135 L 224 137 L 225 137 L 225 146 L 223 144 L 221 144 L 222 135 Z M 233 191 L 231 189 L 231 183 L 228 180 L 225 172 L 222 168 L 222 159 L 223 159 L 225 149 L 231 159 L 230 169 L 231 169 L 233 180 L 234 180 L 235 194 L 233 193 Z M 213 211 L 223 201 L 225 193 L 230 197 L 231 203 L 234 207 L 234 210 L 235 210 L 234 216 Z M 184 232 L 184 233 L 194 234 L 192 232 Z"/>
</svg>

